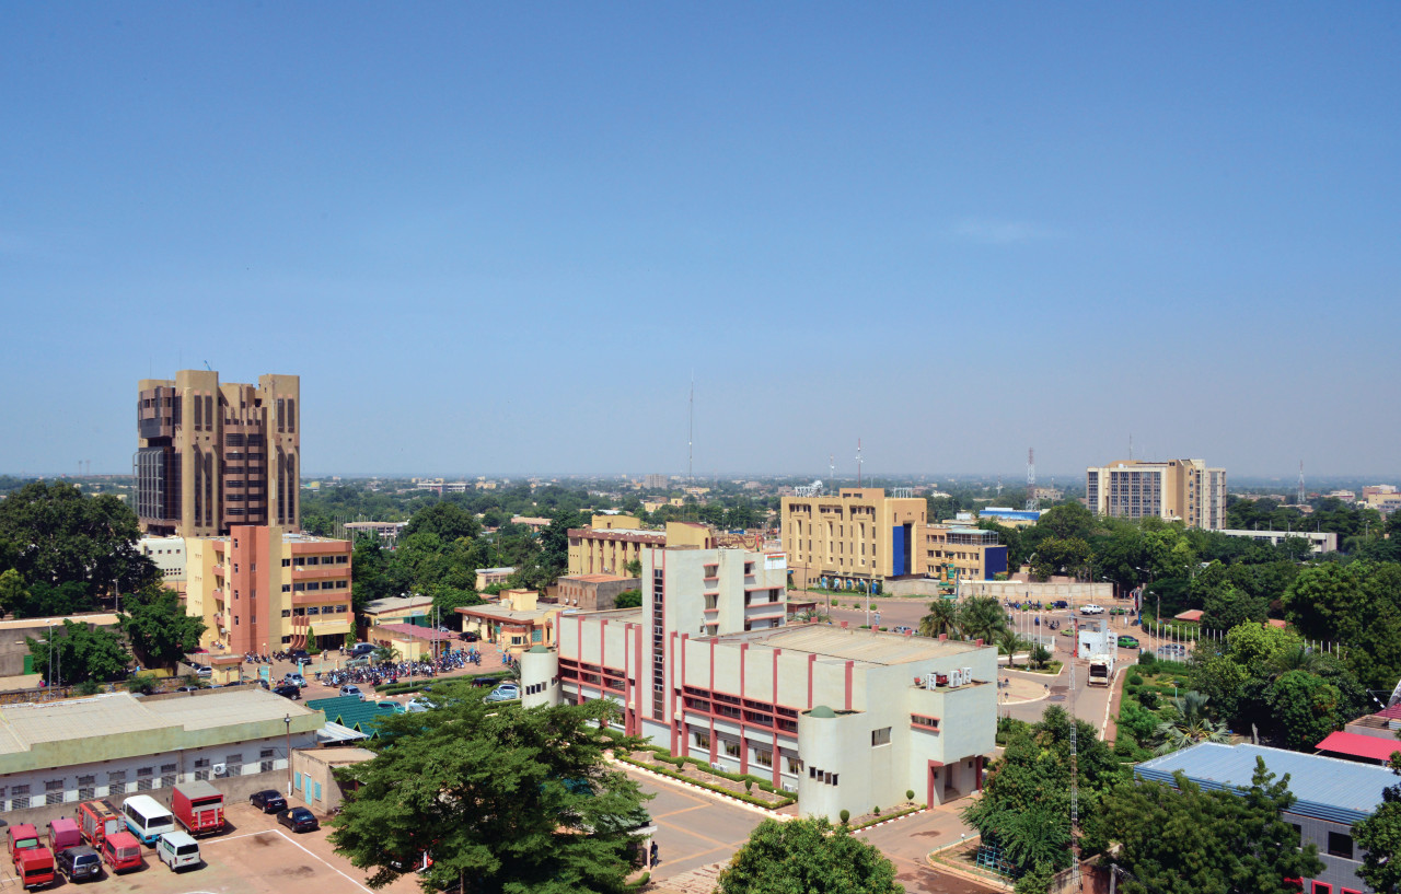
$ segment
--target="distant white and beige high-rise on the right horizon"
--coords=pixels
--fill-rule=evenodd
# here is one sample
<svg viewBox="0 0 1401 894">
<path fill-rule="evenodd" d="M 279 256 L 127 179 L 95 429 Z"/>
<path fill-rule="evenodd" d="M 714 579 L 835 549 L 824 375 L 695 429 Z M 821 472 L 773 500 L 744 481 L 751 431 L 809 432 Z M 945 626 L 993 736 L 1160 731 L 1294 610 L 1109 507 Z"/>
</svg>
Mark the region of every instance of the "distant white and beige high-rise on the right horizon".
<svg viewBox="0 0 1401 894">
<path fill-rule="evenodd" d="M 1226 469 L 1203 460 L 1126 460 L 1084 474 L 1086 506 L 1117 518 L 1157 517 L 1191 528 L 1226 527 Z"/>
</svg>

